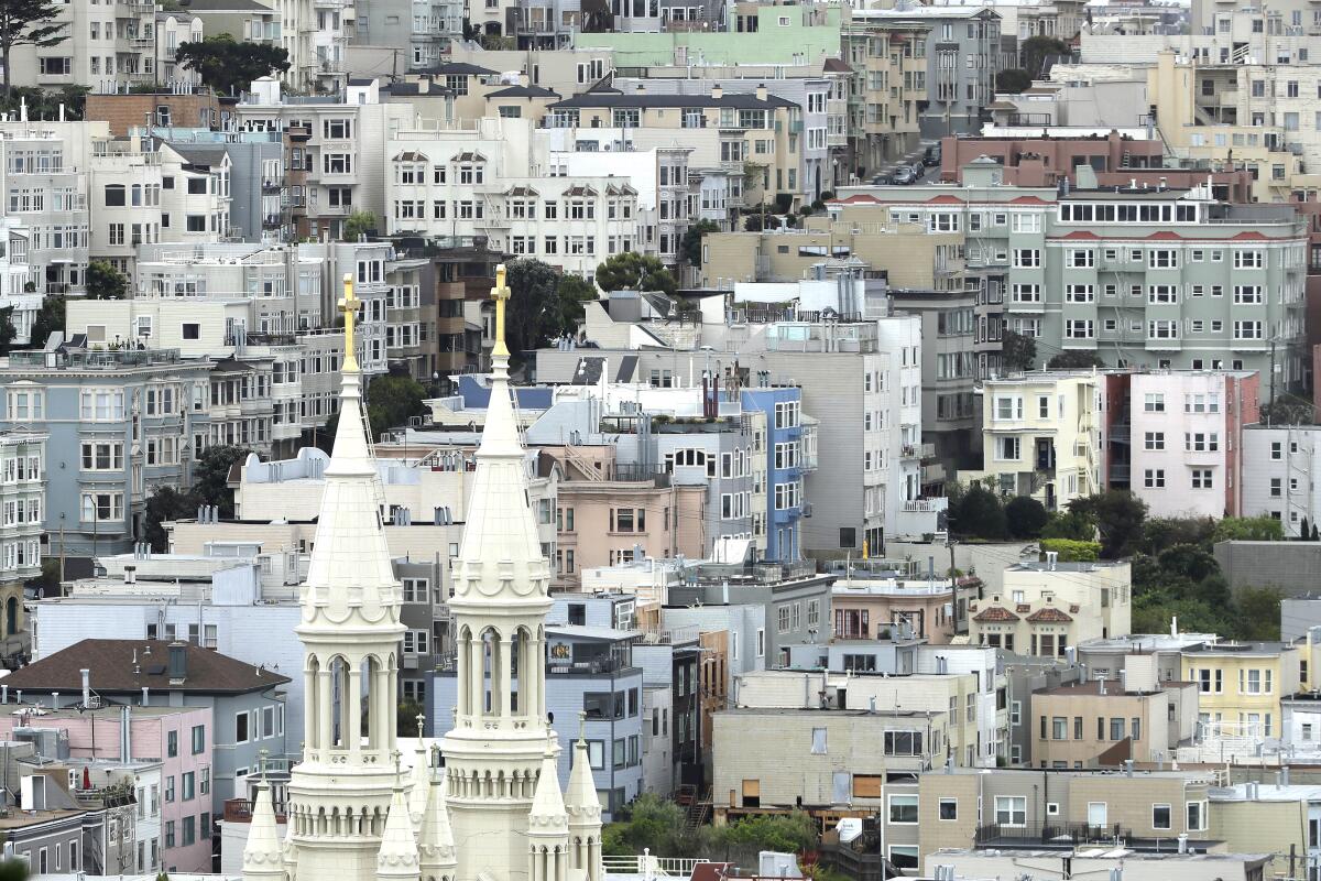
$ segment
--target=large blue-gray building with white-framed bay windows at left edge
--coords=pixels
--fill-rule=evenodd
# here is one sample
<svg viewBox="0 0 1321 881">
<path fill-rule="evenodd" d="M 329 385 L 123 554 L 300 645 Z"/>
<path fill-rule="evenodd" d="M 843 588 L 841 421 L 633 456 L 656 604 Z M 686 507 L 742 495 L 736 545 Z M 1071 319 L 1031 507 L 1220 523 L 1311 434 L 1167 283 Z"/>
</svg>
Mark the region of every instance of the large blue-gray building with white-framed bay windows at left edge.
<svg viewBox="0 0 1321 881">
<path fill-rule="evenodd" d="M 206 445 L 210 363 L 174 349 L 15 351 L 0 366 L 0 429 L 46 440 L 50 553 L 120 553 L 143 536 L 147 499 L 192 483 Z"/>
</svg>

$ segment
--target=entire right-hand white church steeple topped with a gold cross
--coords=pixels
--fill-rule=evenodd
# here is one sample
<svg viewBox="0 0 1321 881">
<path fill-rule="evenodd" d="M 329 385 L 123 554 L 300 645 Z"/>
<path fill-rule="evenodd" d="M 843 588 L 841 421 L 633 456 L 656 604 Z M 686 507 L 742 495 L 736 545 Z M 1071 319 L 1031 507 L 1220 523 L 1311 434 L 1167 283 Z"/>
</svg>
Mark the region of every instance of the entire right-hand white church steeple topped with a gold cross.
<svg viewBox="0 0 1321 881">
<path fill-rule="evenodd" d="M 544 688 L 550 569 L 509 386 L 505 267 L 497 269 L 491 296 L 491 395 L 449 601 L 458 707 L 444 753 L 458 881 L 526 880 L 528 864 L 520 855 L 527 852 L 528 812 L 551 734 Z"/>
</svg>

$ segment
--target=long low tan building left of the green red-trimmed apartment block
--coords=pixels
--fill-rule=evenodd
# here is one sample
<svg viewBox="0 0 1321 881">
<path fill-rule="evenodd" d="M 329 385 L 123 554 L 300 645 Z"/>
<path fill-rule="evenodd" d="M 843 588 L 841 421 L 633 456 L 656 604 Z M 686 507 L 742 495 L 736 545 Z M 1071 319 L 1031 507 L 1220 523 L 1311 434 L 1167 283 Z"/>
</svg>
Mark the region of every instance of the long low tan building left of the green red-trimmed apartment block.
<svg viewBox="0 0 1321 881">
<path fill-rule="evenodd" d="M 703 236 L 699 284 L 797 281 L 822 263 L 861 260 L 884 271 L 893 288 L 963 289 L 963 234 L 930 232 L 917 223 L 806 218 L 803 229 L 713 232 Z"/>
</svg>

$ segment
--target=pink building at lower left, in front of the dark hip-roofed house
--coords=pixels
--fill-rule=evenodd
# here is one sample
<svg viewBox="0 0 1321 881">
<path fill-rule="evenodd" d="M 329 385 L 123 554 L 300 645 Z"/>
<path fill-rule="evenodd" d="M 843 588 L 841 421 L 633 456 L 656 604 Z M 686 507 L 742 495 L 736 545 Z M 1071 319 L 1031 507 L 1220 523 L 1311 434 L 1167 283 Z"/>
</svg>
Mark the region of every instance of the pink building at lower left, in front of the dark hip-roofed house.
<svg viewBox="0 0 1321 881">
<path fill-rule="evenodd" d="M 8 704 L 0 713 L 0 740 L 13 740 L 15 728 L 55 729 L 67 738 L 71 757 L 161 762 L 164 791 L 149 793 L 144 811 L 160 807 L 162 864 L 169 872 L 210 872 L 210 707 L 107 705 L 83 712 L 67 707 L 79 699 L 62 699 L 63 709 Z"/>
</svg>

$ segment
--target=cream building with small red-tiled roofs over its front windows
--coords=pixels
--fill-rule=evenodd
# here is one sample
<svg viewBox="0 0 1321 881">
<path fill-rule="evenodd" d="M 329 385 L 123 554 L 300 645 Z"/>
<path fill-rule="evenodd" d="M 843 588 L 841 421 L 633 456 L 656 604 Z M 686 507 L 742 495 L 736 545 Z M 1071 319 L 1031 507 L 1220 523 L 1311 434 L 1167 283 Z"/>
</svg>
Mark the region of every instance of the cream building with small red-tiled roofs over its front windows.
<svg viewBox="0 0 1321 881">
<path fill-rule="evenodd" d="M 968 604 L 968 638 L 1022 655 L 1065 658 L 1083 639 L 1123 637 L 1132 621 L 1124 563 L 1015 563 L 1000 590 Z"/>
</svg>

